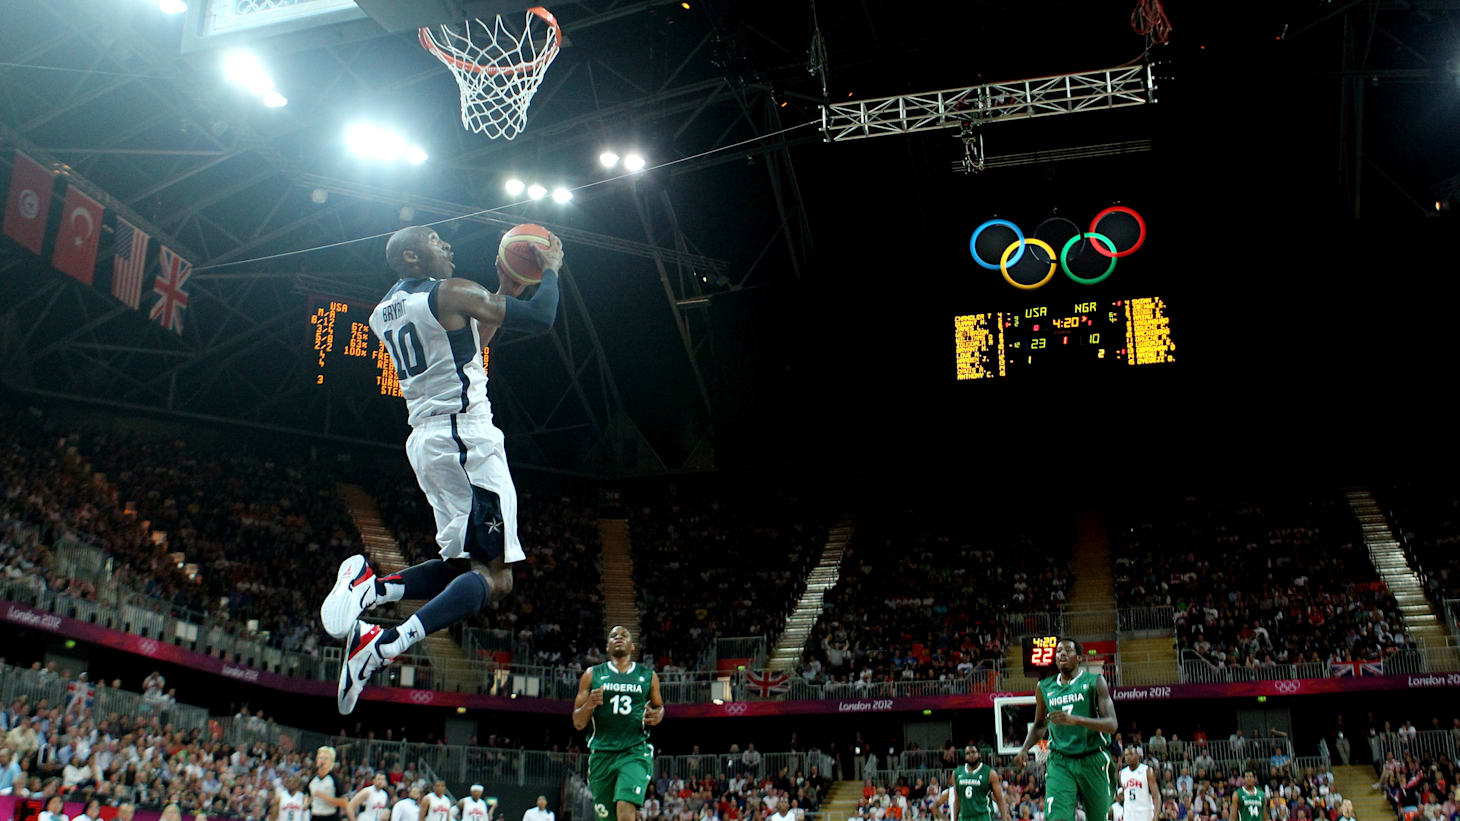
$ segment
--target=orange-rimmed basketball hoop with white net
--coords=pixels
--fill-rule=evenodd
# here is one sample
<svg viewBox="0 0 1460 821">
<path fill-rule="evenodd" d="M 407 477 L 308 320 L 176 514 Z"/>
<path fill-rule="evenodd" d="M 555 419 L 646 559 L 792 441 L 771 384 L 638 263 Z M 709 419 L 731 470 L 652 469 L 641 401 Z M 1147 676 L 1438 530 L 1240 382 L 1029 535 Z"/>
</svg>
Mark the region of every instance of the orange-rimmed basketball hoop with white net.
<svg viewBox="0 0 1460 821">
<path fill-rule="evenodd" d="M 420 47 L 437 56 L 461 89 L 461 126 L 489 139 L 512 139 L 527 127 L 527 107 L 562 48 L 562 29 L 548 9 L 527 9 L 520 32 L 501 15 L 420 29 Z"/>
</svg>

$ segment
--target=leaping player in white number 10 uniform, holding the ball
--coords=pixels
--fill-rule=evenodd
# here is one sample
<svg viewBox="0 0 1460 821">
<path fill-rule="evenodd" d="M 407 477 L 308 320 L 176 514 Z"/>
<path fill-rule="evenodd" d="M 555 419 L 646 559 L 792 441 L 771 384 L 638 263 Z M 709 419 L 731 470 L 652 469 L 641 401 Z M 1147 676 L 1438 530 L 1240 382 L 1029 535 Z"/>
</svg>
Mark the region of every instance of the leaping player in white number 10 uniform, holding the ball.
<svg viewBox="0 0 1460 821">
<path fill-rule="evenodd" d="M 350 713 L 369 676 L 428 634 L 472 616 L 493 596 L 512 592 L 511 562 L 521 561 L 517 489 L 507 470 L 502 431 L 492 424 L 482 346 L 498 329 L 542 333 L 558 317 L 562 243 L 533 245 L 543 267 L 530 299 L 502 275 L 489 292 L 451 276 L 451 245 L 425 226 L 402 228 L 385 244 L 400 280 L 371 313 L 369 326 L 390 351 L 406 397 L 406 456 L 437 517 L 441 558 L 384 578 L 362 555 L 340 564 L 320 605 L 324 630 L 346 638 L 339 709 Z M 400 627 L 359 621 L 366 608 L 431 599 Z"/>
</svg>

